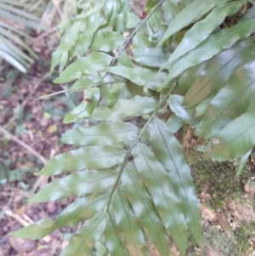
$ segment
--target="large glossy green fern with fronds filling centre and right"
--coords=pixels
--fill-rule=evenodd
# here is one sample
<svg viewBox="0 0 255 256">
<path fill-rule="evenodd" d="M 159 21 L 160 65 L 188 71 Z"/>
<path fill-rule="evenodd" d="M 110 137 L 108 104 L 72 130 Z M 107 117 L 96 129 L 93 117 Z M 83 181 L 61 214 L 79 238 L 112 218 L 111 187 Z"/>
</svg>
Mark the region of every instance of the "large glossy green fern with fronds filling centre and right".
<svg viewBox="0 0 255 256">
<path fill-rule="evenodd" d="M 167 256 L 170 237 L 185 255 L 189 233 L 201 247 L 200 203 L 175 134 L 190 125 L 213 160 L 245 162 L 255 143 L 252 4 L 149 0 L 140 19 L 124 0 L 81 0 L 51 71 L 59 65 L 54 82 L 84 93 L 64 122 L 91 126 L 63 134 L 81 147 L 42 168 L 65 177 L 29 202 L 76 200 L 13 235 L 39 239 L 82 223 L 62 256 L 149 255 L 151 245 Z"/>
</svg>

